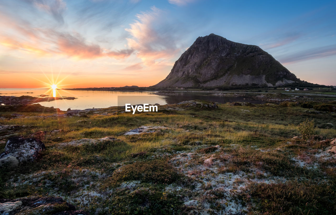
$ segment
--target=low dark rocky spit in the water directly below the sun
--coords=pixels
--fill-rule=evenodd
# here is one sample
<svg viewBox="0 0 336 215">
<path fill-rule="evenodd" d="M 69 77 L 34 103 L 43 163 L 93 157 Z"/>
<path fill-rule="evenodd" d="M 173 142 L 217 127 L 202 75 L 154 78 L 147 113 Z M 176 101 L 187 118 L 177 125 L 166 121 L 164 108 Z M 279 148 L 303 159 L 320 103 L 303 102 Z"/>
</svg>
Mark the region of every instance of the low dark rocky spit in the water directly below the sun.
<svg viewBox="0 0 336 215">
<path fill-rule="evenodd" d="M 0 96 L 0 103 L 6 104 L 6 105 L 12 105 L 12 104 L 34 104 L 42 101 L 54 101 L 54 100 L 60 100 L 60 99 L 69 99 L 74 100 L 75 97 L 46 97 L 46 98 L 39 98 L 39 97 L 33 97 L 29 95 L 23 95 L 23 96 Z"/>
</svg>

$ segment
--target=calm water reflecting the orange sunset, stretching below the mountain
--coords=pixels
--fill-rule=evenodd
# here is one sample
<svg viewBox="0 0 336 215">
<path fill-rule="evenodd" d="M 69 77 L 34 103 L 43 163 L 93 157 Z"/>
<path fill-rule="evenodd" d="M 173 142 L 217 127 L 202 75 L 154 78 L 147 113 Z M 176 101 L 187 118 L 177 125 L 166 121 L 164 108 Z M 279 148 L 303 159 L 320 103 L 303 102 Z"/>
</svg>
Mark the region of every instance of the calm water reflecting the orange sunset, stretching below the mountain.
<svg viewBox="0 0 336 215">
<path fill-rule="evenodd" d="M 27 93 L 28 92 L 28 93 Z M 52 95 L 50 89 L 27 89 L 27 88 L 2 88 L 0 95 L 6 96 L 22 96 L 30 95 L 39 97 L 41 94 Z M 186 100 L 208 100 L 212 102 L 226 103 L 233 101 L 245 101 L 256 104 L 264 103 L 260 100 L 253 100 L 248 97 L 228 97 L 228 96 L 211 96 L 211 93 L 202 92 L 178 92 L 178 95 L 155 95 L 153 92 L 114 92 L 114 91 L 89 91 L 89 90 L 56 90 L 56 97 L 70 96 L 76 97 L 75 100 L 56 100 L 39 102 L 43 106 L 55 107 L 60 110 L 87 109 L 87 108 L 103 108 L 117 105 L 125 105 L 125 103 L 134 104 L 173 104 Z"/>
</svg>

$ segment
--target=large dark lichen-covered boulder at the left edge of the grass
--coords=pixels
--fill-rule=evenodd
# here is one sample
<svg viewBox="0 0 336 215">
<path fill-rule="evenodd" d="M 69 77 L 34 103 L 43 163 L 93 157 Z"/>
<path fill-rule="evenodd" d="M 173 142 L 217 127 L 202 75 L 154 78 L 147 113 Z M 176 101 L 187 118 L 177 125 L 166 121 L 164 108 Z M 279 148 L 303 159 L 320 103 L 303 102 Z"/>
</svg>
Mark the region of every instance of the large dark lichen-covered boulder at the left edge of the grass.
<svg viewBox="0 0 336 215">
<path fill-rule="evenodd" d="M 19 163 L 33 162 L 44 149 L 45 145 L 38 139 L 11 137 L 0 155 L 0 166 L 16 167 Z"/>
</svg>

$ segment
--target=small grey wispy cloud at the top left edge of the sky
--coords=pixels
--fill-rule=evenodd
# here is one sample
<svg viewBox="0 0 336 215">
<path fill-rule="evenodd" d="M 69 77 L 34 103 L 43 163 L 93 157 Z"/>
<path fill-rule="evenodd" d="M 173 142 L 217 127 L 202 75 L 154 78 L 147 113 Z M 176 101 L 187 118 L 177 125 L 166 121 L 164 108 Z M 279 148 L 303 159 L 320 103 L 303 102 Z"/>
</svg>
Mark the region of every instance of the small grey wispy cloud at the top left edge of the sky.
<svg viewBox="0 0 336 215">
<path fill-rule="evenodd" d="M 64 23 L 63 14 L 67 4 L 62 0 L 26 0 L 36 8 L 50 13 L 58 22 Z"/>
</svg>

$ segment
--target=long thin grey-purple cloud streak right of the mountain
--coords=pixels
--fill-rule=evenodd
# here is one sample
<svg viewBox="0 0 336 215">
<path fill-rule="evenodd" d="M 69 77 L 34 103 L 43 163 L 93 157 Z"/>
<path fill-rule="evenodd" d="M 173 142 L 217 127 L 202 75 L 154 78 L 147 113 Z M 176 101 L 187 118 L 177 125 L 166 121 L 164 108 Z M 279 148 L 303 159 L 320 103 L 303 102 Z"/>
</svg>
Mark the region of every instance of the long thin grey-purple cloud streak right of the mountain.
<svg viewBox="0 0 336 215">
<path fill-rule="evenodd" d="M 328 57 L 332 55 L 336 55 L 336 45 L 307 49 L 283 57 L 280 56 L 279 59 L 282 63 L 292 63 L 308 59 Z"/>
</svg>

